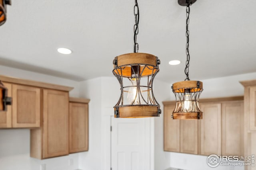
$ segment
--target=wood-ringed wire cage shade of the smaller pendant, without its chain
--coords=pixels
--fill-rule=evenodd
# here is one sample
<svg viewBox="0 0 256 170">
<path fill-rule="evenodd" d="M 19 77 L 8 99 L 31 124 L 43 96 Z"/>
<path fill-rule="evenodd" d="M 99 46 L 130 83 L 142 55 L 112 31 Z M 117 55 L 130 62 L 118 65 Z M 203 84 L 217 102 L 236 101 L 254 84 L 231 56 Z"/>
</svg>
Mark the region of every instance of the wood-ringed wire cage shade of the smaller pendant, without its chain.
<svg viewBox="0 0 256 170">
<path fill-rule="evenodd" d="M 203 91 L 203 83 L 200 81 L 182 81 L 172 85 L 175 94 L 176 106 L 172 112 L 173 119 L 202 119 L 202 111 L 199 107 L 199 97 Z"/>
</svg>

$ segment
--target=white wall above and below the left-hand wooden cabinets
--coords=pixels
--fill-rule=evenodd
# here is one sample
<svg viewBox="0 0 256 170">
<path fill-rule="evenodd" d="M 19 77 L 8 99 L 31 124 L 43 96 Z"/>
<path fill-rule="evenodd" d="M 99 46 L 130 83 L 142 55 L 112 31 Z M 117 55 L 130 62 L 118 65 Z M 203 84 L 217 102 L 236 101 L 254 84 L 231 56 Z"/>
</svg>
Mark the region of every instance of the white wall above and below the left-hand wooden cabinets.
<svg viewBox="0 0 256 170">
<path fill-rule="evenodd" d="M 79 83 L 72 80 L 6 66 L 0 66 L 0 73 L 5 76 L 71 86 L 74 89 L 70 96 L 79 95 Z M 30 158 L 29 129 L 0 129 L 0 170 L 40 170 L 40 164 L 45 164 L 46 170 L 75 170 L 78 169 L 78 154 L 46 160 Z"/>
</svg>

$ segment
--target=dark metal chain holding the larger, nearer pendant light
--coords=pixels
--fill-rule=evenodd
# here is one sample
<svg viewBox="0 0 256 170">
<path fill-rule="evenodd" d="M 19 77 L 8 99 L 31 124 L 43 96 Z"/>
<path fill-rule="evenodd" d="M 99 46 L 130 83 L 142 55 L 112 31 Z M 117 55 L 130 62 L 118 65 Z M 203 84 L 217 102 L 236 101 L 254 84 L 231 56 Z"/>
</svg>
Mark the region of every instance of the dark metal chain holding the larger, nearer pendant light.
<svg viewBox="0 0 256 170">
<path fill-rule="evenodd" d="M 133 26 L 134 31 L 134 53 L 138 53 L 139 50 L 139 44 L 137 43 L 137 35 L 139 33 L 139 19 L 140 19 L 140 13 L 139 13 L 139 6 L 137 0 L 135 0 L 134 5 L 134 17 L 135 17 L 135 24 Z"/>
</svg>

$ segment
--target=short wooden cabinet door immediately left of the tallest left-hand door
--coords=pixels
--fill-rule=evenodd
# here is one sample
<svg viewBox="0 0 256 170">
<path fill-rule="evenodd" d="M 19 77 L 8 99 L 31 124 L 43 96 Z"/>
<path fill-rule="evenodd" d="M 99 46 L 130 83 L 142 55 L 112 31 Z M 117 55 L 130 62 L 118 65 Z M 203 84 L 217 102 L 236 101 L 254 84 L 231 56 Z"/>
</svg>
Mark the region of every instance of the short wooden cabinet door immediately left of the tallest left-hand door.
<svg viewBox="0 0 256 170">
<path fill-rule="evenodd" d="M 12 85 L 12 127 L 40 127 L 40 88 Z"/>
</svg>

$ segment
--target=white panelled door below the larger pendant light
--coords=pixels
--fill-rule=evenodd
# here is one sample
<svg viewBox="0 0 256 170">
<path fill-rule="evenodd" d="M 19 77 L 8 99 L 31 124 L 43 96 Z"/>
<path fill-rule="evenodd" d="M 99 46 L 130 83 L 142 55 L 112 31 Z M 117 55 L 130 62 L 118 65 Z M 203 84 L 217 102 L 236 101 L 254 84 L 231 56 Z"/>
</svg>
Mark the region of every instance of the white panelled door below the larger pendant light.
<svg viewBox="0 0 256 170">
<path fill-rule="evenodd" d="M 112 170 L 145 170 L 145 119 L 112 117 L 111 125 Z"/>
</svg>

